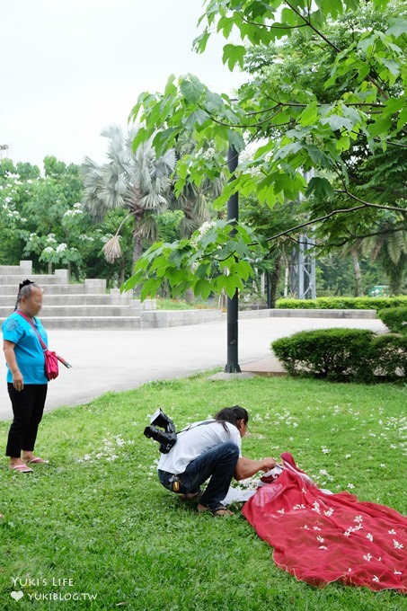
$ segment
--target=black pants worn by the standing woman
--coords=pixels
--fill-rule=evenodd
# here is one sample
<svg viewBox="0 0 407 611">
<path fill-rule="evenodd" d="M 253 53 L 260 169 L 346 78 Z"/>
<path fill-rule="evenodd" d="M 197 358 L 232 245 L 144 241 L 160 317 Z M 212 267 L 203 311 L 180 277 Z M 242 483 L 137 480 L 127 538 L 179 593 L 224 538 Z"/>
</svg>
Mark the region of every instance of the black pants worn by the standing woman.
<svg viewBox="0 0 407 611">
<path fill-rule="evenodd" d="M 21 391 L 16 391 L 10 383 L 7 387 L 12 400 L 14 420 L 8 433 L 5 456 L 19 458 L 22 450 L 32 452 L 34 449 L 48 385 L 27 384 Z"/>
</svg>

